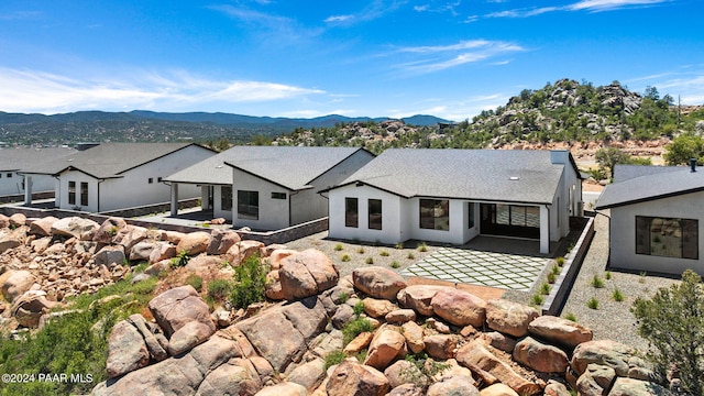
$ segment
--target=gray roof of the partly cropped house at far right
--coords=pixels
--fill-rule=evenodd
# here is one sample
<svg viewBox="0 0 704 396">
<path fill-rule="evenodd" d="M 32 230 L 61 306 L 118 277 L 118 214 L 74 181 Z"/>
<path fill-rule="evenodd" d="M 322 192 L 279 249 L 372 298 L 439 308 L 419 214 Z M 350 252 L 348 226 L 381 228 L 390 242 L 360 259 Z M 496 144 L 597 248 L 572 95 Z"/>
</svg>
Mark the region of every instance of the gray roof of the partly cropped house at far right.
<svg viewBox="0 0 704 396">
<path fill-rule="evenodd" d="M 692 172 L 686 166 L 668 166 L 669 169 L 657 170 L 653 168 L 657 166 L 644 166 L 644 169 L 634 173 L 642 176 L 606 186 L 595 209 L 616 208 L 704 190 L 704 170 Z"/>
</svg>

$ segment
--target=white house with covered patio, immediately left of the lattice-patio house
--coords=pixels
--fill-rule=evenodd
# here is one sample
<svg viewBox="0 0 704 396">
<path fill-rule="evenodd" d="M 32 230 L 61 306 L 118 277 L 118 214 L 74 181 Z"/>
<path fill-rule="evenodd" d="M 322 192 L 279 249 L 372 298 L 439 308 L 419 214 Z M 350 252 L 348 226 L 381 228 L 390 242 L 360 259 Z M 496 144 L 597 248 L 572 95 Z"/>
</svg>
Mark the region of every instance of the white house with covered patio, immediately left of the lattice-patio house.
<svg viewBox="0 0 704 396">
<path fill-rule="evenodd" d="M 277 230 L 328 216 L 319 191 L 372 158 L 358 147 L 234 146 L 165 180 L 176 194 L 201 186 L 204 209 L 234 227 Z"/>
</svg>

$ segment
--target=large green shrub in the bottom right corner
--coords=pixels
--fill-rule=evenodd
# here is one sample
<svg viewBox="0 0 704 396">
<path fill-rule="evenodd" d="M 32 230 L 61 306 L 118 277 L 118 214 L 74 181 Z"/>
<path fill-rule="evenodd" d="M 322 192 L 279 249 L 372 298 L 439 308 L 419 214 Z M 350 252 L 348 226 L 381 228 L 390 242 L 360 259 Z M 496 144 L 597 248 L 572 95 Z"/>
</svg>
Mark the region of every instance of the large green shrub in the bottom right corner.
<svg viewBox="0 0 704 396">
<path fill-rule="evenodd" d="M 686 394 L 704 395 L 704 286 L 688 270 L 682 282 L 662 287 L 651 299 L 637 298 L 630 311 L 638 334 L 651 348 L 646 354 L 663 378 L 675 365 Z"/>
</svg>

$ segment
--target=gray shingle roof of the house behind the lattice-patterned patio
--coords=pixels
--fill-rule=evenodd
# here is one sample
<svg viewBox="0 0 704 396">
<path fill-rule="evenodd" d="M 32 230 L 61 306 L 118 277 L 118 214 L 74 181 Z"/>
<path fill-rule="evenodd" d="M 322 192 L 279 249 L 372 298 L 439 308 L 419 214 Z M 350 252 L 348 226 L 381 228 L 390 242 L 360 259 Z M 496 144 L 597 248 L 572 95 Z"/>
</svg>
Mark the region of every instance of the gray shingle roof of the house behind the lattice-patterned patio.
<svg viewBox="0 0 704 396">
<path fill-rule="evenodd" d="M 550 151 L 389 148 L 340 186 L 363 183 L 406 198 L 551 204 L 563 169 Z"/>
</svg>

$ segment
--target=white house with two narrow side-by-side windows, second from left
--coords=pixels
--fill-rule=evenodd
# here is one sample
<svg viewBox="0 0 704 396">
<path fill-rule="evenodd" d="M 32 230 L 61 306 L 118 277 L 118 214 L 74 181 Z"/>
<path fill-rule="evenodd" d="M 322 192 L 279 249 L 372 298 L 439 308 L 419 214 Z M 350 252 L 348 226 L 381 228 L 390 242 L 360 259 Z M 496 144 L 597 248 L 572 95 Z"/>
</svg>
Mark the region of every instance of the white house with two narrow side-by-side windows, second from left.
<svg viewBox="0 0 704 396">
<path fill-rule="evenodd" d="M 194 143 L 103 143 L 21 173 L 57 178 L 57 208 L 105 212 L 168 202 L 162 178 L 212 155 Z M 199 196 L 197 188 L 182 191 L 184 199 Z"/>
</svg>

